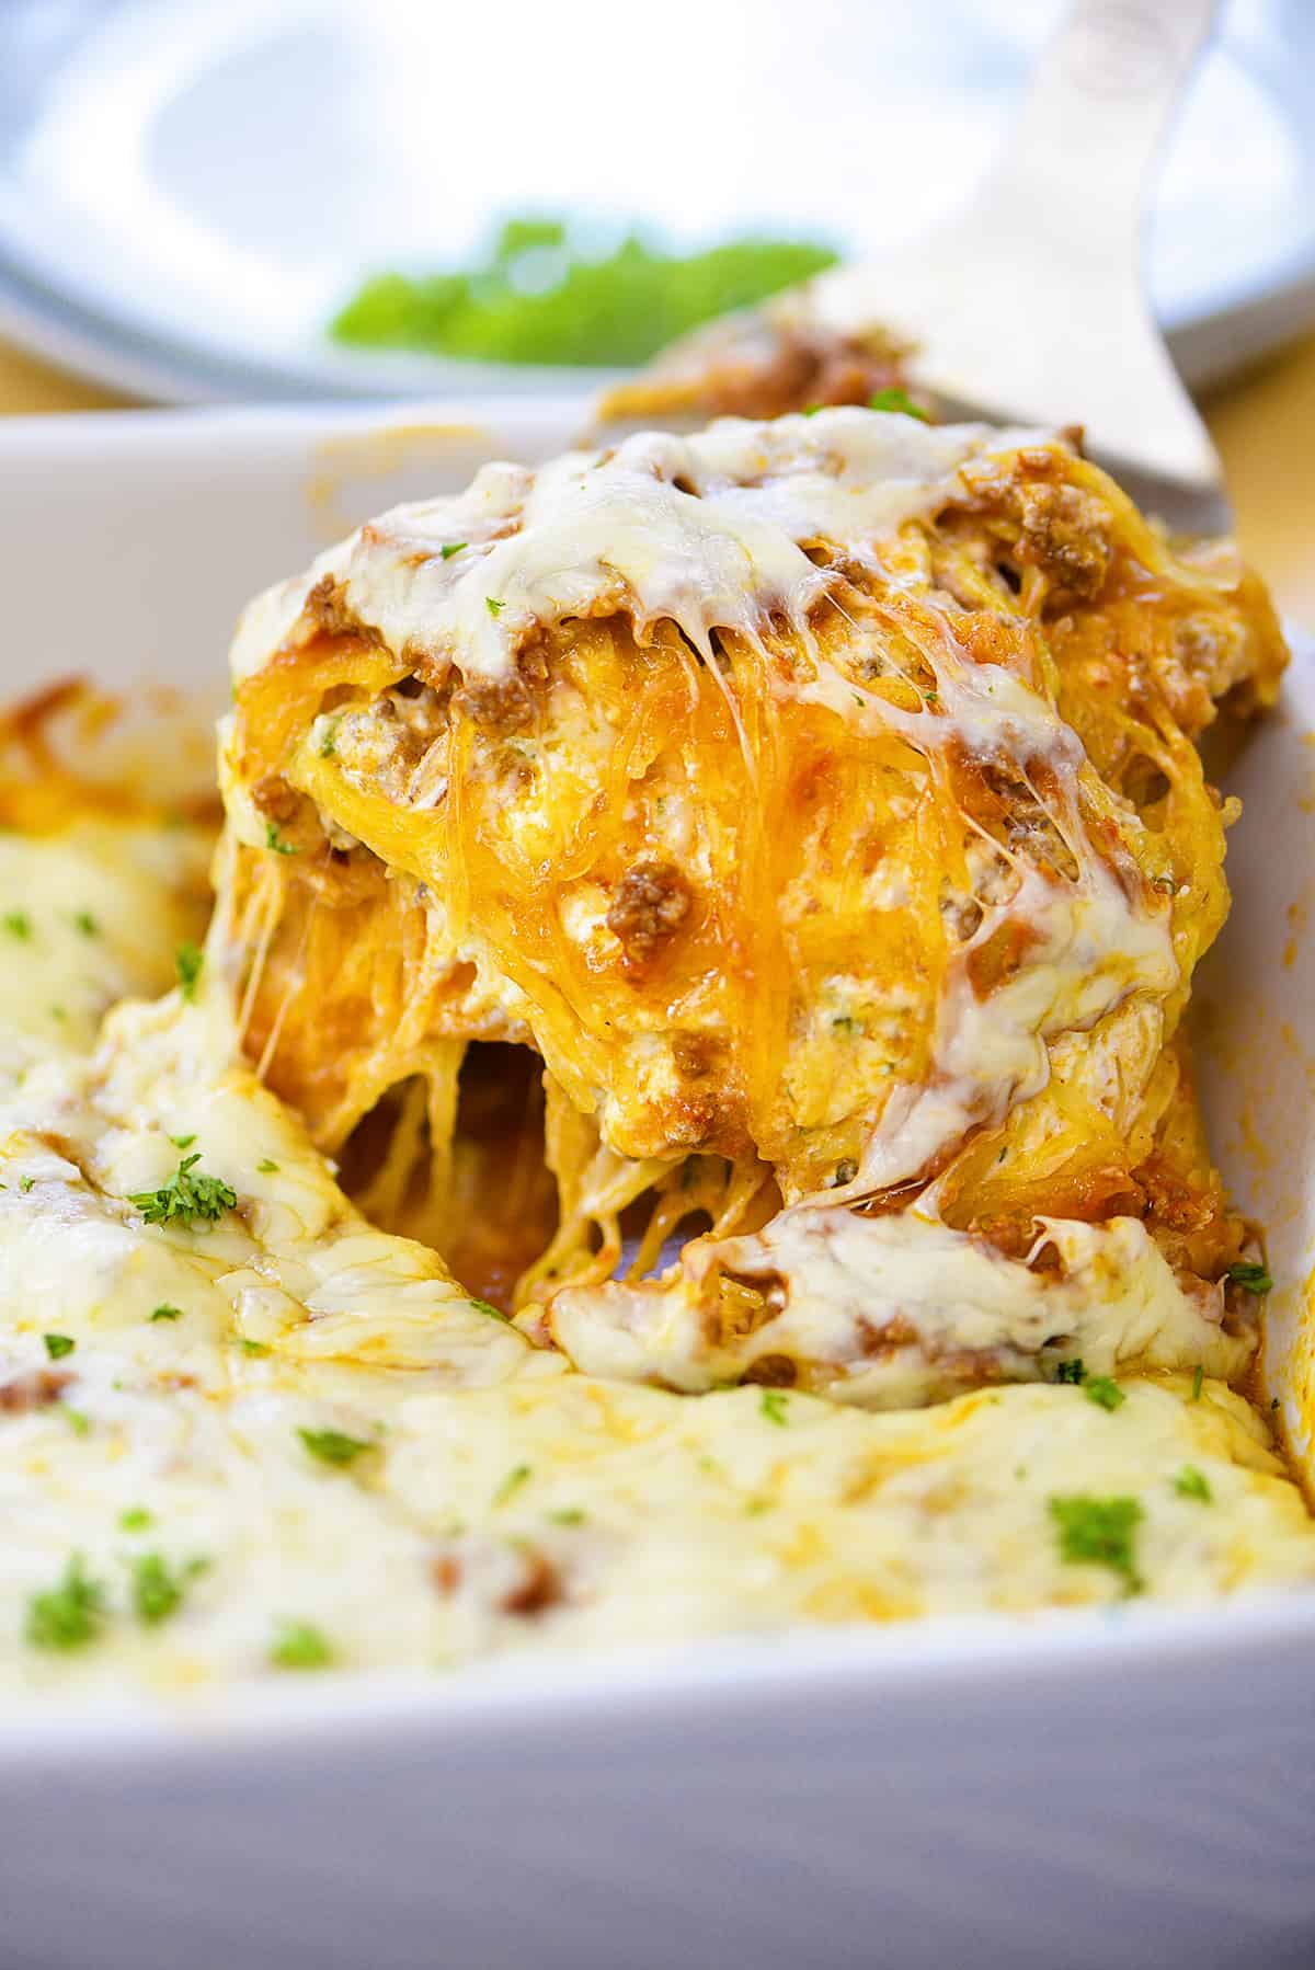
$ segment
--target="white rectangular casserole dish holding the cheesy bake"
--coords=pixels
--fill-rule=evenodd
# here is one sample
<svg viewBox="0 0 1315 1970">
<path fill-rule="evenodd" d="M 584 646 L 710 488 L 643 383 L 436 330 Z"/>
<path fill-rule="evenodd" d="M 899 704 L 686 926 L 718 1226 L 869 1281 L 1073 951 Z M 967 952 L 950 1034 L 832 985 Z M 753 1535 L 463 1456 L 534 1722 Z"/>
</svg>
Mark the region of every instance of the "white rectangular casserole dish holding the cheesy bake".
<svg viewBox="0 0 1315 1970">
<path fill-rule="evenodd" d="M 0 426 L 0 691 L 215 684 L 233 619 L 398 498 L 576 437 L 564 402 Z M 1201 979 L 1214 1145 L 1270 1229 L 1266 1399 L 1309 1452 L 1315 672 L 1232 784 Z M 0 1566 L 2 1529 L 0 1529 Z M 1315 1594 L 818 1631 L 450 1680 L 327 1676 L 0 1734 L 16 1970 L 1309 1964 Z"/>
</svg>

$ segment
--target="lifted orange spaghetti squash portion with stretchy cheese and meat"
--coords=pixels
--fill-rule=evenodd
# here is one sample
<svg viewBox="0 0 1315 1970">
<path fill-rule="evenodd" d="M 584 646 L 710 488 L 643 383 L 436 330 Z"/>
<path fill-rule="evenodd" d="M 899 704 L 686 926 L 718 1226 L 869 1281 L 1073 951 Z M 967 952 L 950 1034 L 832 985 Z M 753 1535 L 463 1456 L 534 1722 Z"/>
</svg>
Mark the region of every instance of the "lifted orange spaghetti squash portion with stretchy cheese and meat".
<svg viewBox="0 0 1315 1970">
<path fill-rule="evenodd" d="M 300 788 L 375 857 L 353 849 L 341 883 L 317 855 L 280 857 L 282 914 L 256 944 L 248 1046 L 268 1052 L 270 1080 L 329 1149 L 388 1087 L 428 1084 L 428 1147 L 420 1109 L 404 1105 L 388 1178 L 371 1192 L 382 1200 L 404 1188 L 400 1162 L 426 1154 L 432 1188 L 448 1182 L 453 1044 L 534 1044 L 562 1225 L 526 1290 L 611 1271 L 621 1215 L 651 1188 L 643 1263 L 688 1215 L 682 1186 L 726 1231 L 737 1214 L 755 1219 L 773 1170 L 787 1196 L 830 1188 L 830 1202 L 940 1172 L 940 1194 L 972 1221 L 954 1172 L 974 1158 L 974 1131 L 1049 1101 L 1045 1156 L 1031 1174 L 1027 1156 L 1009 1168 L 1035 1210 L 1047 1168 L 1059 1180 L 1067 1158 L 1080 1162 L 1090 1115 L 1073 1080 L 1055 1080 L 1055 1042 L 1102 1030 L 1130 1003 L 1163 1015 L 1138 1026 L 1145 1058 L 1130 1066 L 1163 1109 L 1155 1054 L 1222 914 L 1220 816 L 1161 697 L 1130 709 L 1116 688 L 1069 676 L 1067 640 L 1082 648 L 1100 599 L 1067 597 L 1041 626 L 1063 567 L 1027 565 L 1009 489 L 1031 475 L 1088 502 L 1110 567 L 1136 591 L 1110 603 L 1114 628 L 1134 603 L 1138 632 L 1163 623 L 1165 646 L 1179 621 L 1216 623 L 1220 638 L 1262 646 L 1250 666 L 1262 684 L 1278 640 L 1266 648 L 1270 624 L 1246 621 L 1236 569 L 1185 561 L 1055 441 L 907 424 L 836 412 L 631 441 L 536 479 L 491 469 L 461 500 L 406 508 L 335 550 L 239 638 L 225 758 L 242 839 L 227 865 L 227 934 L 252 938 L 252 898 L 268 896 L 272 857 L 246 806 L 264 776 Z M 877 429 L 889 426 L 901 429 Z M 451 540 L 467 546 L 442 558 Z M 1021 567 L 1017 595 L 1000 561 Z M 329 628 L 306 613 L 325 581 L 343 615 Z M 388 733 L 406 705 L 386 693 L 416 666 L 438 695 L 402 772 Z M 522 727 L 461 703 L 463 686 L 520 678 Z M 351 745 L 321 755 L 319 715 Z M 1140 756 L 1165 776 L 1149 831 L 1094 753 L 1106 772 Z M 582 944 L 568 910 L 588 920 L 591 886 L 605 898 L 645 853 L 664 857 L 672 806 L 698 877 L 676 955 L 635 971 L 613 946 L 601 961 L 607 934 Z M 972 857 L 996 894 L 972 894 Z M 879 906 L 869 890 L 883 875 L 897 894 Z M 820 922 L 798 904 L 810 883 Z M 946 898 L 980 912 L 966 936 L 946 930 Z M 856 1111 L 834 1113 L 844 1099 L 793 1078 L 824 1056 L 812 1026 L 846 977 L 869 1003 L 832 1015 L 832 1030 L 864 1032 L 875 1007 L 899 1038 L 883 1042 L 891 1072 Z M 345 1036 L 339 1052 L 325 1022 Z M 643 1082 L 645 1034 L 664 1044 L 672 1028 L 722 1050 L 720 1111 L 694 1156 L 674 1097 L 662 1107 Z M 564 1127 L 564 1113 L 593 1123 Z M 984 1172 L 996 1214 L 1000 1192 Z"/>
</svg>

